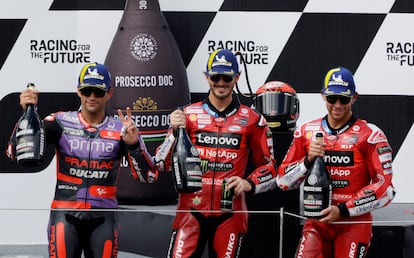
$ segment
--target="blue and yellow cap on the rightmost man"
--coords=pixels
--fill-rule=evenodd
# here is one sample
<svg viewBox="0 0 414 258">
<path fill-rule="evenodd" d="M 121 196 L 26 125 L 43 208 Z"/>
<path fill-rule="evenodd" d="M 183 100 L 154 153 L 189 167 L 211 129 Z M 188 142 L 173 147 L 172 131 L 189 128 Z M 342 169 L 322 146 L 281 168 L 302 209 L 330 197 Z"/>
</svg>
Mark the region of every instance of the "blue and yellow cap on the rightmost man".
<svg viewBox="0 0 414 258">
<path fill-rule="evenodd" d="M 352 97 L 355 94 L 354 76 L 345 67 L 337 67 L 326 73 L 322 94 Z"/>
</svg>

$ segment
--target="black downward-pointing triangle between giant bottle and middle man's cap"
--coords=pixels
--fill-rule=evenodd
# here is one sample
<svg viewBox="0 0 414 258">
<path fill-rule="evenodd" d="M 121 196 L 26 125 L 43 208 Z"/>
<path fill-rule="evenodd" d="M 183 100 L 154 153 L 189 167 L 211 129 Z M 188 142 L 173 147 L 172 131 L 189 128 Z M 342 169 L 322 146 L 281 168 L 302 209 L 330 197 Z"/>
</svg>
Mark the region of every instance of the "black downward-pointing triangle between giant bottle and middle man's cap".
<svg viewBox="0 0 414 258">
<path fill-rule="evenodd" d="M 186 67 L 191 62 L 215 15 L 215 12 L 164 12 Z"/>
</svg>

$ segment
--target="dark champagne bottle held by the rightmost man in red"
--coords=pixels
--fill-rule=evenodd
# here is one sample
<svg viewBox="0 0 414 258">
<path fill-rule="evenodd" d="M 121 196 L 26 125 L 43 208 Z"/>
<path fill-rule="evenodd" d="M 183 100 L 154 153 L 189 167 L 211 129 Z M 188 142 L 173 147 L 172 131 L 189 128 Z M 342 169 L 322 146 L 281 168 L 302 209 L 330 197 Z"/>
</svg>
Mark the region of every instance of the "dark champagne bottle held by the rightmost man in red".
<svg viewBox="0 0 414 258">
<path fill-rule="evenodd" d="M 323 141 L 323 134 L 316 133 L 316 141 Z M 315 162 L 303 186 L 304 215 L 308 218 L 321 218 L 320 212 L 331 205 L 332 183 L 322 157 Z"/>
</svg>

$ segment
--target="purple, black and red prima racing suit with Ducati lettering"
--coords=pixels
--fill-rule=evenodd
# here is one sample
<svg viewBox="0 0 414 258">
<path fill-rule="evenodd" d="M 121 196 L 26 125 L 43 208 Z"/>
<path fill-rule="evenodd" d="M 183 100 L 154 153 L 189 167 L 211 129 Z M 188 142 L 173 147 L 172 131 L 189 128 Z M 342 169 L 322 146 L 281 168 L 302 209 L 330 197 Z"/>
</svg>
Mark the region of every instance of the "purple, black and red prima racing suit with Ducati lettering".
<svg viewBox="0 0 414 258">
<path fill-rule="evenodd" d="M 46 144 L 54 144 L 57 184 L 48 226 L 50 257 L 117 257 L 116 180 L 126 155 L 135 179 L 154 182 L 158 172 L 140 139 L 126 145 L 122 123 L 106 116 L 91 126 L 82 113 L 59 112 L 44 119 Z M 15 129 L 16 131 L 16 129 Z M 7 155 L 15 158 L 15 131 Z M 98 211 L 97 209 L 109 209 Z M 91 211 L 88 211 L 91 210 Z"/>
</svg>

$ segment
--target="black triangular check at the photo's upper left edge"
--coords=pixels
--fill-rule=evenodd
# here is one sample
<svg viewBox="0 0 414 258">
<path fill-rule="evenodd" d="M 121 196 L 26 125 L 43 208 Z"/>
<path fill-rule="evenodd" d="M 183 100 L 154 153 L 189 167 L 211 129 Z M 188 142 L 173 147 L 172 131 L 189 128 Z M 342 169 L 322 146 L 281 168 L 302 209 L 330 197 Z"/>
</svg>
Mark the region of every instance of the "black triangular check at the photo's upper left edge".
<svg viewBox="0 0 414 258">
<path fill-rule="evenodd" d="M 0 19 L 0 70 L 3 67 L 4 62 L 6 62 L 14 43 L 16 43 L 20 32 L 26 24 L 26 21 L 26 19 Z"/>
</svg>

